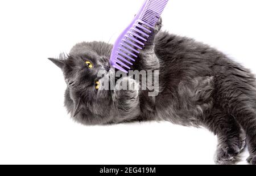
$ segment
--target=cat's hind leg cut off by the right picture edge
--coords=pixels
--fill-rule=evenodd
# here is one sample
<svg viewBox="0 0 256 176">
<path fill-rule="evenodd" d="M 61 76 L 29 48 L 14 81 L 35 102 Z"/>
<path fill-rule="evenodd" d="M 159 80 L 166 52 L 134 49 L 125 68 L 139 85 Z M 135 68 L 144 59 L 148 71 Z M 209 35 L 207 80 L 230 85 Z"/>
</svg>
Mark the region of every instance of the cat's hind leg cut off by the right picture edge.
<svg viewBox="0 0 256 176">
<path fill-rule="evenodd" d="M 242 126 L 247 138 L 250 157 L 256 164 L 256 82 L 245 68 L 229 61 L 216 64 L 216 102 Z"/>
</svg>

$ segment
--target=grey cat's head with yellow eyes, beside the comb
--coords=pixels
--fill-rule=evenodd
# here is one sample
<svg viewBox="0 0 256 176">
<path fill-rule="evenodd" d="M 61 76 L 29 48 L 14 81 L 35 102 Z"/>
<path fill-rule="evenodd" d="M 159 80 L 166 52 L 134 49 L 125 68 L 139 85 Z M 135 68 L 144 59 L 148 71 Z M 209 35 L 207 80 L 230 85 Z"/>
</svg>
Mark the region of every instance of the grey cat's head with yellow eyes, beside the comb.
<svg viewBox="0 0 256 176">
<path fill-rule="evenodd" d="M 86 125 L 111 121 L 112 92 L 99 89 L 104 78 L 98 73 L 112 70 L 109 64 L 112 48 L 105 42 L 82 42 L 68 55 L 49 58 L 63 71 L 67 83 L 65 106 L 76 121 Z"/>
</svg>

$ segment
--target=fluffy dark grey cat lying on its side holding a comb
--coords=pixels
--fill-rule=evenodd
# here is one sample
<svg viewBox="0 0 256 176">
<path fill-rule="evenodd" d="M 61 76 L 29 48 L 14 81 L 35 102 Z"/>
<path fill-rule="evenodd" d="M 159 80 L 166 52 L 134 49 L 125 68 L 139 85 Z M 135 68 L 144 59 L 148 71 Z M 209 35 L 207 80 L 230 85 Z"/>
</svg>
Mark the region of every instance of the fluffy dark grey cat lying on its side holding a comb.
<svg viewBox="0 0 256 176">
<path fill-rule="evenodd" d="M 203 126 L 217 135 L 216 164 L 234 164 L 246 147 L 256 164 L 256 82 L 254 75 L 220 51 L 187 37 L 159 32 L 162 20 L 136 59 L 133 70 L 159 70 L 159 94 L 148 90 L 100 90 L 99 71 L 109 65 L 112 45 L 81 42 L 68 55 L 49 58 L 67 83 L 65 106 L 77 122 L 108 125 L 131 121 L 170 121 Z M 107 75 L 107 76 L 108 76 Z M 130 77 L 119 80 L 134 87 Z"/>
</svg>

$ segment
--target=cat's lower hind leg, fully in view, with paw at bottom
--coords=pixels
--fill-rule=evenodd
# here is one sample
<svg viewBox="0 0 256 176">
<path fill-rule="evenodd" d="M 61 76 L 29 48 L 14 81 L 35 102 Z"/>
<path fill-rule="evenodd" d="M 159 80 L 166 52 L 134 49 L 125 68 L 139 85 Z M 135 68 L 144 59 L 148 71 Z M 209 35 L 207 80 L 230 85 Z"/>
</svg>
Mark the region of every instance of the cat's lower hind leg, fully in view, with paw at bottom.
<svg viewBox="0 0 256 176">
<path fill-rule="evenodd" d="M 240 153 L 245 148 L 246 138 L 236 120 L 224 111 L 213 109 L 205 123 L 218 138 L 214 160 L 216 164 L 235 164 L 240 161 Z"/>
</svg>

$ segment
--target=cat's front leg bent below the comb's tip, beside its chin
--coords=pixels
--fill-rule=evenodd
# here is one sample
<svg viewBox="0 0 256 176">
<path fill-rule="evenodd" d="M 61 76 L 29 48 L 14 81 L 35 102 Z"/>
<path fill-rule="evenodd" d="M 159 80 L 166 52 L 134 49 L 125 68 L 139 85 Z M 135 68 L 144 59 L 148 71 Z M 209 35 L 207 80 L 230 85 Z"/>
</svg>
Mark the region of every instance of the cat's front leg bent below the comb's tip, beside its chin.
<svg viewBox="0 0 256 176">
<path fill-rule="evenodd" d="M 134 119 L 140 113 L 139 84 L 132 78 L 121 78 L 115 85 L 113 101 L 118 114 L 116 122 Z"/>
</svg>

